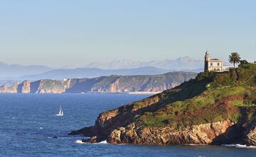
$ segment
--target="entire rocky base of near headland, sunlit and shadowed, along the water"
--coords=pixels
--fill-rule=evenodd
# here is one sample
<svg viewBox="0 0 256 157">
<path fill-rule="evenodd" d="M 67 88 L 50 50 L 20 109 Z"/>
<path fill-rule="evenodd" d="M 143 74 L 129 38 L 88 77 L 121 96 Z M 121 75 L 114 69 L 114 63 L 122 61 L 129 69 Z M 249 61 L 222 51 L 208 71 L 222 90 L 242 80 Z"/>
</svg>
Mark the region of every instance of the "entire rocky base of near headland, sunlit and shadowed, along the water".
<svg viewBox="0 0 256 157">
<path fill-rule="evenodd" d="M 250 110 L 256 112 L 256 107 L 250 108 Z M 90 139 L 82 139 L 82 142 L 90 143 L 107 140 L 110 144 L 242 144 L 256 146 L 256 122 L 246 123 L 223 120 L 178 129 L 169 126 L 143 127 L 132 123 L 126 127 L 109 128 L 107 120 L 110 119 L 112 119 L 111 113 L 107 117 L 98 117 L 95 126 L 70 132 L 70 135 L 82 134 L 90 137 Z"/>
</svg>

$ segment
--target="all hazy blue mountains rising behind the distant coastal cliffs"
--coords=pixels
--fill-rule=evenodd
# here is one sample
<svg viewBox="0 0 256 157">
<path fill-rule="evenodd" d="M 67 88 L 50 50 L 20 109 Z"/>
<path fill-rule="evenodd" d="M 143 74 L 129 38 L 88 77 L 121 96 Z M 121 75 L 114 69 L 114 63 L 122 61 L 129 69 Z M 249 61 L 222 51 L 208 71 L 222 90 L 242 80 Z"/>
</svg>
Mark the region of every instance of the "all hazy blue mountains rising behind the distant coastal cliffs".
<svg viewBox="0 0 256 157">
<path fill-rule="evenodd" d="M 164 74 L 169 71 L 203 71 L 203 60 L 191 57 L 178 59 L 132 62 L 119 60 L 113 62 L 93 62 L 77 69 L 53 69 L 48 66 L 19 64 L 4 64 L 0 62 L 0 85 L 10 80 L 39 80 L 39 79 L 69 79 L 69 78 L 94 78 L 110 75 L 153 75 Z"/>
</svg>

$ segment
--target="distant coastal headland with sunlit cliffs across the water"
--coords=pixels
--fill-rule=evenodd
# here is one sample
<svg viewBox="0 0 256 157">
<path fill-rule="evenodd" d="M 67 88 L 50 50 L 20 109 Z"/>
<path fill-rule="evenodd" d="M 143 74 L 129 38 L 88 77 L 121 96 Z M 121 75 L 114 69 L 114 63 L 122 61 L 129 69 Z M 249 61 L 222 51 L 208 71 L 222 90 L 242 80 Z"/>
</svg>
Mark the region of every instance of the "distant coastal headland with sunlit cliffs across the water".
<svg viewBox="0 0 256 157">
<path fill-rule="evenodd" d="M 0 86 L 0 93 L 159 93 L 196 77 L 191 72 L 170 72 L 159 75 L 101 76 L 93 79 L 41 79 Z"/>
</svg>

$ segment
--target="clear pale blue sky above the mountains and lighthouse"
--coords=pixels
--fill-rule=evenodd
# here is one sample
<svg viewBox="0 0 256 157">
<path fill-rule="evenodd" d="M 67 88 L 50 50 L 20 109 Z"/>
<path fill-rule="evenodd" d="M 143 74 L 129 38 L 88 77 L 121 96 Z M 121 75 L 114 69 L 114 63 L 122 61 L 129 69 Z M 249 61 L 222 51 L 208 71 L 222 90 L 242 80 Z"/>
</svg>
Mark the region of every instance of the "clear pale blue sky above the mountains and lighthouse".
<svg viewBox="0 0 256 157">
<path fill-rule="evenodd" d="M 0 62 L 84 66 L 189 56 L 256 60 L 256 1 L 1 0 Z"/>
</svg>

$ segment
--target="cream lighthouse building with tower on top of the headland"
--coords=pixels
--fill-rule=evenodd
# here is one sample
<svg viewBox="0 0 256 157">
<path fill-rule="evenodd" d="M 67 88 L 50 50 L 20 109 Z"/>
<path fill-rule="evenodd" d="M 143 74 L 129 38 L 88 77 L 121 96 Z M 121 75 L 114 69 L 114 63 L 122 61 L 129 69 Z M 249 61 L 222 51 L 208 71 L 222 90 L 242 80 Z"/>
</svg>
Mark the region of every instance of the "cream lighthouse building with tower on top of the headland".
<svg viewBox="0 0 256 157">
<path fill-rule="evenodd" d="M 225 66 L 221 59 L 210 59 L 210 54 L 206 52 L 204 71 L 223 72 L 229 71 L 232 66 Z"/>
</svg>

